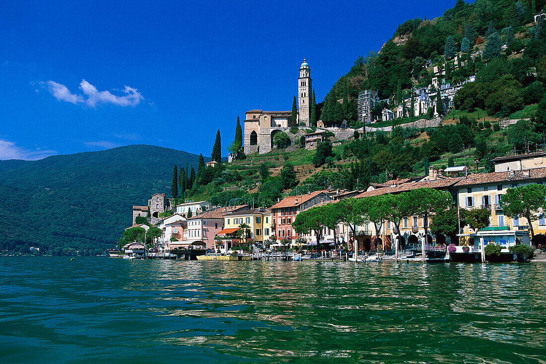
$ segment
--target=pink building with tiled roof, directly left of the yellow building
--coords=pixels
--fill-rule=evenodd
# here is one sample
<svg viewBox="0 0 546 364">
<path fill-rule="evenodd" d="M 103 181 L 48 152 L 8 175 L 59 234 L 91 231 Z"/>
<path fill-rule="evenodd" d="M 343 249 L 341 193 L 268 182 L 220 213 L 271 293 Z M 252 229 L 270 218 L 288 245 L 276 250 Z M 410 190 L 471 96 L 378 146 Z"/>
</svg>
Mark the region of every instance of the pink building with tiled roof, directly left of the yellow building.
<svg viewBox="0 0 546 364">
<path fill-rule="evenodd" d="M 185 240 L 191 244 L 203 242 L 206 249 L 216 249 L 216 234 L 224 228 L 224 214 L 207 211 L 197 216 L 186 219 L 187 231 L 184 233 Z"/>
</svg>

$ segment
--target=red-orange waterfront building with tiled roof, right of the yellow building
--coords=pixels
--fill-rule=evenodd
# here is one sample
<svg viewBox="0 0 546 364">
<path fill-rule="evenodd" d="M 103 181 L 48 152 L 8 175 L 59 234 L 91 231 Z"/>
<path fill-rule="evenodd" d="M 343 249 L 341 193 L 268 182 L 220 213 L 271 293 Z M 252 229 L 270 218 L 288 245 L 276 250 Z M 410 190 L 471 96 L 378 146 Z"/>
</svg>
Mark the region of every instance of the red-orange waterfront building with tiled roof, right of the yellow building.
<svg viewBox="0 0 546 364">
<path fill-rule="evenodd" d="M 295 239 L 297 234 L 292 227 L 292 222 L 301 211 L 332 198 L 326 191 L 309 192 L 306 195 L 288 196 L 271 207 L 272 230 L 277 242 L 281 239 Z"/>
</svg>

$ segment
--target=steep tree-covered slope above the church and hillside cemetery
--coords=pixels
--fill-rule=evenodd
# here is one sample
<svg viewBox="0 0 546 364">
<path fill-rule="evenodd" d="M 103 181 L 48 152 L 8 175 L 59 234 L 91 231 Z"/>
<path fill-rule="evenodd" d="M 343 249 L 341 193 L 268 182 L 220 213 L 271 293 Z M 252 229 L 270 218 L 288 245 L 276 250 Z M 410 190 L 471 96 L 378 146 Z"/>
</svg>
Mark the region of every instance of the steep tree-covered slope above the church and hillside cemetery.
<svg viewBox="0 0 546 364">
<path fill-rule="evenodd" d="M 546 80 L 546 26 L 534 22 L 533 14 L 545 5 L 545 0 L 457 0 L 441 17 L 407 20 L 379 53 L 359 57 L 336 81 L 317 104 L 316 120 L 334 125 L 347 119 L 354 125 L 358 93 L 365 89 L 390 99 L 377 104 L 376 115 L 387 105 L 399 104 L 413 87 L 432 84 L 435 74 L 425 67 L 429 60 L 444 71 L 440 77 L 446 83 L 456 84 L 476 73 L 480 76 L 456 101 L 459 109 L 479 108 L 490 116 L 505 117 L 536 104 L 544 87 L 535 82 Z M 477 51 L 482 55 L 471 57 Z M 488 102 L 493 91 L 496 95 Z"/>
</svg>

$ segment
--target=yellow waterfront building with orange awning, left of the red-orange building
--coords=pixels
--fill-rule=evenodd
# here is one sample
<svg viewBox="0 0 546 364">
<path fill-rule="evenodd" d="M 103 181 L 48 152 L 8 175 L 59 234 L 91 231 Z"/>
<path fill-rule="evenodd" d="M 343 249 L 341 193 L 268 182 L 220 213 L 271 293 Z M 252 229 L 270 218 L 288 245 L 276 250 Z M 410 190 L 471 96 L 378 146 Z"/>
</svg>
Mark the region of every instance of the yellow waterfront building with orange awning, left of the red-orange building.
<svg viewBox="0 0 546 364">
<path fill-rule="evenodd" d="M 250 227 L 245 239 L 252 238 L 263 242 L 273 234 L 270 209 L 248 209 L 224 215 L 224 229 L 238 228 L 241 224 Z"/>
</svg>

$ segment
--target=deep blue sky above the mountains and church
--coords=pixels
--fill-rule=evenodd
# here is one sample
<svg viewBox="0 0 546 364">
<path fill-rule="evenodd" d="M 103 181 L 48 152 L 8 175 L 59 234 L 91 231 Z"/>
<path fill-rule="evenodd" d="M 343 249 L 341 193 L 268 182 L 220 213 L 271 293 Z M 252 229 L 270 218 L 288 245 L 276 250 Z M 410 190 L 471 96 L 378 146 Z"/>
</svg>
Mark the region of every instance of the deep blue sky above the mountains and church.
<svg viewBox="0 0 546 364">
<path fill-rule="evenodd" d="M 317 102 L 401 22 L 455 0 L 4 1 L 0 160 L 153 144 L 222 155 L 251 109 L 289 110 L 304 57 Z"/>
</svg>

